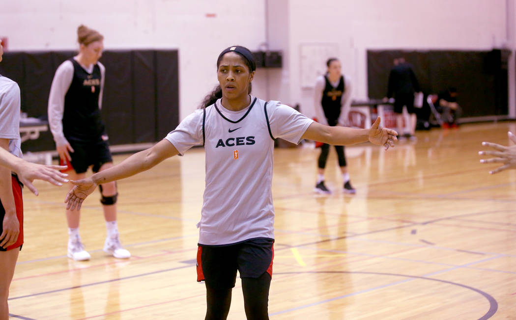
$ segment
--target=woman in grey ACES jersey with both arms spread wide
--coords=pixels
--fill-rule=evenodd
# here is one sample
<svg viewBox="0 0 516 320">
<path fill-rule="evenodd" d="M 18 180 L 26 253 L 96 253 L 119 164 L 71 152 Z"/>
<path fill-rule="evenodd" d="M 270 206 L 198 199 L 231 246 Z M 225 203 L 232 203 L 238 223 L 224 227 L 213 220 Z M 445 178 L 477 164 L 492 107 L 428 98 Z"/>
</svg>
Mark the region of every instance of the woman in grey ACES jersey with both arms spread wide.
<svg viewBox="0 0 516 320">
<path fill-rule="evenodd" d="M 148 170 L 166 158 L 204 145 L 206 187 L 199 227 L 197 280 L 205 280 L 206 319 L 225 319 L 236 272 L 240 273 L 248 319 L 267 319 L 272 275 L 271 178 L 274 139 L 301 139 L 334 145 L 367 140 L 394 146 L 396 132 L 328 127 L 277 101 L 250 95 L 256 63 L 245 47 L 232 46 L 217 59 L 219 86 L 203 108 L 186 117 L 167 137 L 91 178 L 74 181 L 69 208 L 80 207 L 99 183 Z M 238 192 L 235 192 L 238 190 Z"/>
</svg>

